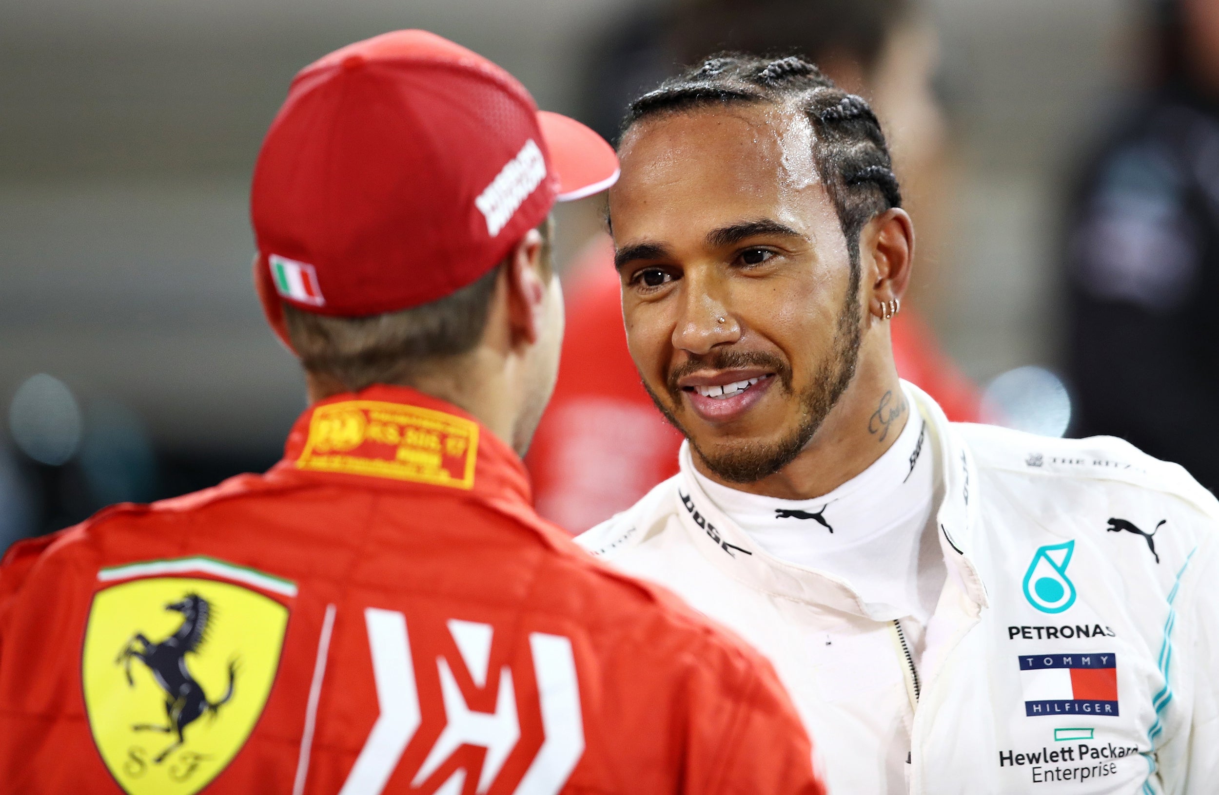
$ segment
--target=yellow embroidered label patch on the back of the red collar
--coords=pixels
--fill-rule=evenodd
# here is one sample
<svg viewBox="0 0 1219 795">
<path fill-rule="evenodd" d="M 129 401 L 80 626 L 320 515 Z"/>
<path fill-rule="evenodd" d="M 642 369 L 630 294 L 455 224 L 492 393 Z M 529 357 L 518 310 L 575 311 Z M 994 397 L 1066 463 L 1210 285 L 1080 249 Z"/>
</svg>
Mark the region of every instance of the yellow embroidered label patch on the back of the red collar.
<svg viewBox="0 0 1219 795">
<path fill-rule="evenodd" d="M 300 469 L 471 488 L 478 424 L 416 405 L 349 401 L 319 405 Z"/>
</svg>

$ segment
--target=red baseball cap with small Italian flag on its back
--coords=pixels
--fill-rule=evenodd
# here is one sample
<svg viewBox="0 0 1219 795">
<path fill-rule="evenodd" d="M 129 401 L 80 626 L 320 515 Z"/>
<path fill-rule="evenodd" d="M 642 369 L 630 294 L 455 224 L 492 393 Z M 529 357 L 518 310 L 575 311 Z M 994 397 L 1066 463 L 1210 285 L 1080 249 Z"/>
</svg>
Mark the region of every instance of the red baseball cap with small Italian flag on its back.
<svg viewBox="0 0 1219 795">
<path fill-rule="evenodd" d="M 338 317 L 424 304 L 617 178 L 600 135 L 539 112 L 483 56 L 425 30 L 357 41 L 296 75 L 258 152 L 258 296 L 285 342 L 280 301 Z"/>
</svg>

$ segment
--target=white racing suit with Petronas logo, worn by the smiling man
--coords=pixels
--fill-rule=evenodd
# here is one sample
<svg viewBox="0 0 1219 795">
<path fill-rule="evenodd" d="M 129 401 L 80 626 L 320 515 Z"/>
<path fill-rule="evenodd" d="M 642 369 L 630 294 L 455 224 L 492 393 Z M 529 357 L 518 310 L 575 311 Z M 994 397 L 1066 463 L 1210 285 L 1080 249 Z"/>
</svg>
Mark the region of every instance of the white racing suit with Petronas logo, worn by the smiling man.
<svg viewBox="0 0 1219 795">
<path fill-rule="evenodd" d="M 774 664 L 830 793 L 1219 793 L 1219 503 L 1111 438 L 950 424 L 925 393 L 947 580 L 925 650 L 778 560 L 690 475 L 579 543 Z"/>
</svg>

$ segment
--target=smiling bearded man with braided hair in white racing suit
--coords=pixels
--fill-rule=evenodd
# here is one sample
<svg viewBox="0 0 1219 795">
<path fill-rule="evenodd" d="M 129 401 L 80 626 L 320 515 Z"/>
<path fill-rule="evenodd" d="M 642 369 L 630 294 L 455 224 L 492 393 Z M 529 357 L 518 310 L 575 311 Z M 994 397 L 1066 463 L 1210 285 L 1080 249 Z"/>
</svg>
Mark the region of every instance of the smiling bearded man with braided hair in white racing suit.
<svg viewBox="0 0 1219 795">
<path fill-rule="evenodd" d="M 914 235 L 867 102 L 712 57 L 631 105 L 619 157 L 629 347 L 688 442 L 580 543 L 770 657 L 830 791 L 1213 791 L 1219 504 L 898 380 Z"/>
</svg>

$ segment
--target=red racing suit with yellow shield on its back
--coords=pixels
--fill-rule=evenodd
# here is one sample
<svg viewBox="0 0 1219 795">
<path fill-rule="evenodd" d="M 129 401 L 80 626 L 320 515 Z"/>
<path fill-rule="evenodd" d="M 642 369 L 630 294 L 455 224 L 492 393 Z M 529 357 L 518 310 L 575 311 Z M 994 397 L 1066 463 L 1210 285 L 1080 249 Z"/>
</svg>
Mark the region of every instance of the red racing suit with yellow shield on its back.
<svg viewBox="0 0 1219 795">
<path fill-rule="evenodd" d="M 461 410 L 374 386 L 284 460 L 0 567 L 5 793 L 823 793 L 774 671 L 530 508 Z"/>
</svg>

